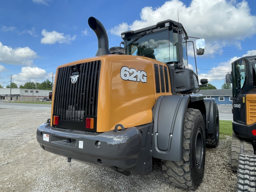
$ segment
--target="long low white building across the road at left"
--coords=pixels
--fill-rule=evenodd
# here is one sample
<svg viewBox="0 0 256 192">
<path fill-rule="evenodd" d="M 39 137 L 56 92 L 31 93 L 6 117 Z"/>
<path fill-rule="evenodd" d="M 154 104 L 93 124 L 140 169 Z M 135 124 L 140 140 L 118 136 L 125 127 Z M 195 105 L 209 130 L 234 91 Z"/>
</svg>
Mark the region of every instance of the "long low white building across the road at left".
<svg viewBox="0 0 256 192">
<path fill-rule="evenodd" d="M 20 89 L 12 88 L 12 101 L 36 101 L 37 98 L 49 98 L 49 94 L 52 90 L 38 90 L 38 89 Z M 33 97 L 34 96 L 34 97 Z M 0 100 L 10 101 L 10 89 L 0 89 Z"/>
</svg>

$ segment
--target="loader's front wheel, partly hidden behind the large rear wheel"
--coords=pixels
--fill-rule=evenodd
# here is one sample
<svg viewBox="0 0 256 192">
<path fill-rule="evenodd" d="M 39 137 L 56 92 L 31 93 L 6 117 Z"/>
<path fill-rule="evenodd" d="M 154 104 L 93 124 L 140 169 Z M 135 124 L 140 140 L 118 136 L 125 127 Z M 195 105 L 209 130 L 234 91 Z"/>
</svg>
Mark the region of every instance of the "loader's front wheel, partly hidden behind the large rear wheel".
<svg viewBox="0 0 256 192">
<path fill-rule="evenodd" d="M 219 121 L 219 109 L 216 103 L 214 103 L 214 133 L 208 134 L 208 138 L 206 139 L 206 147 L 207 148 L 216 148 L 219 145 L 220 140 L 220 121 Z"/>
</svg>

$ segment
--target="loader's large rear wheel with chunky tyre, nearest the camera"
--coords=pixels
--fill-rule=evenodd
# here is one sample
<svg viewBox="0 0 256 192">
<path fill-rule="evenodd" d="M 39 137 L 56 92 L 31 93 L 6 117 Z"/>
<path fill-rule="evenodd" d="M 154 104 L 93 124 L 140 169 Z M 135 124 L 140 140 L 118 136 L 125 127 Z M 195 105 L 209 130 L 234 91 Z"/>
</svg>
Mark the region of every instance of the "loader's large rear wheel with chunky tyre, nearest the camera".
<svg viewBox="0 0 256 192">
<path fill-rule="evenodd" d="M 164 177 L 171 184 L 196 189 L 204 177 L 205 127 L 201 112 L 188 108 L 185 116 L 182 161 L 162 160 Z"/>
</svg>

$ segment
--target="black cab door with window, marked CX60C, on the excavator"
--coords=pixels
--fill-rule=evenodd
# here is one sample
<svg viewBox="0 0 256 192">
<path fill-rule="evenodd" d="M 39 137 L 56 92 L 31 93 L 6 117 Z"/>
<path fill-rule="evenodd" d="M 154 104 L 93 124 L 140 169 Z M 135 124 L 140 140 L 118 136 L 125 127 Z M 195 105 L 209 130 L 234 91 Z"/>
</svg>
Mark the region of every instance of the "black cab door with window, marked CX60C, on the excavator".
<svg viewBox="0 0 256 192">
<path fill-rule="evenodd" d="M 232 65 L 233 76 L 233 119 L 234 121 L 246 124 L 246 105 L 243 88 L 246 83 L 246 63 L 238 60 Z"/>
</svg>

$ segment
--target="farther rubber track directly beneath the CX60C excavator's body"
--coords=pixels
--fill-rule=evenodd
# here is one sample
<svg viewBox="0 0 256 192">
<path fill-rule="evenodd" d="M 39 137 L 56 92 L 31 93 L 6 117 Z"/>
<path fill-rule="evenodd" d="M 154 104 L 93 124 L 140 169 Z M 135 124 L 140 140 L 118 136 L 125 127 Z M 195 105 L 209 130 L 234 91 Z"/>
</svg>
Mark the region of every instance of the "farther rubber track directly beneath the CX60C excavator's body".
<svg viewBox="0 0 256 192">
<path fill-rule="evenodd" d="M 239 138 L 234 132 L 231 141 L 231 169 L 237 171 L 239 154 L 254 155 L 252 143 Z"/>
</svg>

